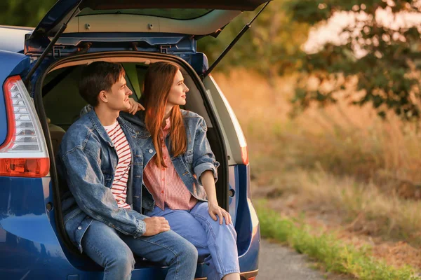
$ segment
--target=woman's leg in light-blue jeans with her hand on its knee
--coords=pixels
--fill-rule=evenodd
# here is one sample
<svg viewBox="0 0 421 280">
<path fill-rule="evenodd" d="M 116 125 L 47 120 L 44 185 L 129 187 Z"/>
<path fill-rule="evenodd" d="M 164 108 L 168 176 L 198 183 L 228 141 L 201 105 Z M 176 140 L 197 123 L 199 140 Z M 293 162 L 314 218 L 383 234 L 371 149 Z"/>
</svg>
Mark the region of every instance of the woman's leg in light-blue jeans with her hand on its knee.
<svg viewBox="0 0 421 280">
<path fill-rule="evenodd" d="M 225 222 L 220 225 L 214 221 L 208 212 L 208 202 L 198 202 L 190 214 L 201 223 L 206 232 L 208 250 L 213 259 L 217 275 L 213 279 L 239 279 L 239 256 L 236 248 L 236 232 L 234 225 Z M 232 275 L 230 275 L 232 274 Z M 227 276 L 227 277 L 225 277 Z"/>
</svg>

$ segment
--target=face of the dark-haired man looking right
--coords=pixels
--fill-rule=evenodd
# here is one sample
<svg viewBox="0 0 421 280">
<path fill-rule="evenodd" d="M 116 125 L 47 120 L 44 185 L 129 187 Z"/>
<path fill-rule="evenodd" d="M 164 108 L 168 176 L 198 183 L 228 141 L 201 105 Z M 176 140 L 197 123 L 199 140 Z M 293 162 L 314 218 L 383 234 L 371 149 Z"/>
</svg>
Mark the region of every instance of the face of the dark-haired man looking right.
<svg viewBox="0 0 421 280">
<path fill-rule="evenodd" d="M 126 79 L 121 76 L 111 89 L 106 92 L 107 94 L 107 105 L 109 109 L 126 111 L 130 109 L 130 103 L 128 102 L 128 97 L 133 94 L 133 92 L 127 87 Z"/>
</svg>

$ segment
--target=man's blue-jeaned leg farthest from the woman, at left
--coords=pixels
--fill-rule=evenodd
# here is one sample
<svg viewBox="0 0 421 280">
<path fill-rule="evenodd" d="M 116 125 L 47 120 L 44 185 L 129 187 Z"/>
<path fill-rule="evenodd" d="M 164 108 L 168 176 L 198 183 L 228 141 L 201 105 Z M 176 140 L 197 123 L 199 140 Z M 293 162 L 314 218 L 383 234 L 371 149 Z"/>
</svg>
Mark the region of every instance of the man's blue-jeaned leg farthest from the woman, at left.
<svg viewBox="0 0 421 280">
<path fill-rule="evenodd" d="M 86 255 L 104 267 L 104 279 L 131 279 L 133 253 L 114 228 L 94 220 L 83 235 L 82 247 Z"/>
</svg>

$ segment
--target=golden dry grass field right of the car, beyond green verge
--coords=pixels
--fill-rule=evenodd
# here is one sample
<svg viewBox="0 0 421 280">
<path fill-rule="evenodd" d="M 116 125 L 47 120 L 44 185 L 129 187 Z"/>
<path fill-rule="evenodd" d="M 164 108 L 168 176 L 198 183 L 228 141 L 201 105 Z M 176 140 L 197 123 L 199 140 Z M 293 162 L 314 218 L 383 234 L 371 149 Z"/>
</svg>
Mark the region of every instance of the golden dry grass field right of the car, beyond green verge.
<svg viewBox="0 0 421 280">
<path fill-rule="evenodd" d="M 419 125 L 345 100 L 290 118 L 294 76 L 274 87 L 241 70 L 214 76 L 246 135 L 253 184 L 274 209 L 373 237 L 373 255 L 421 269 Z"/>
</svg>

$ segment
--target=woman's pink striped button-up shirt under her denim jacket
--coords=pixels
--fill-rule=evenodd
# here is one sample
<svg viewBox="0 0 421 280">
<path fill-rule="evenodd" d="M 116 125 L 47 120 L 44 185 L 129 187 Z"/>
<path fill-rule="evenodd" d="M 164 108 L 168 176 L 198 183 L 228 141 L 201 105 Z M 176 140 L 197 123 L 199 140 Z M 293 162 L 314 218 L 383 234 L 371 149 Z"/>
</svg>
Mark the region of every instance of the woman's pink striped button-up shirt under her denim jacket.
<svg viewBox="0 0 421 280">
<path fill-rule="evenodd" d="M 189 210 L 196 205 L 197 200 L 189 192 L 185 183 L 175 171 L 173 162 L 166 148 L 164 139 L 170 132 L 170 119 L 166 119 L 166 126 L 162 130 L 162 157 L 167 168 L 157 167 L 156 155 L 149 161 L 144 170 L 145 186 L 152 194 L 157 207 L 164 209 L 165 204 L 173 210 Z"/>
</svg>

